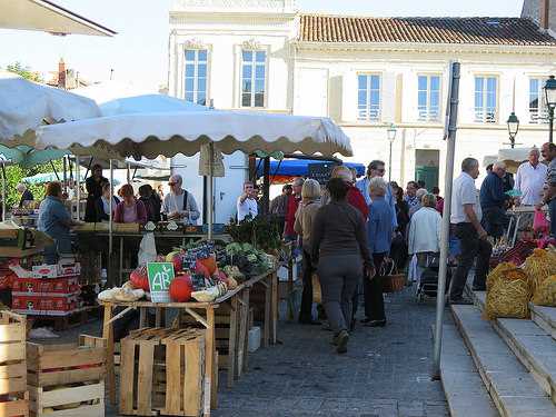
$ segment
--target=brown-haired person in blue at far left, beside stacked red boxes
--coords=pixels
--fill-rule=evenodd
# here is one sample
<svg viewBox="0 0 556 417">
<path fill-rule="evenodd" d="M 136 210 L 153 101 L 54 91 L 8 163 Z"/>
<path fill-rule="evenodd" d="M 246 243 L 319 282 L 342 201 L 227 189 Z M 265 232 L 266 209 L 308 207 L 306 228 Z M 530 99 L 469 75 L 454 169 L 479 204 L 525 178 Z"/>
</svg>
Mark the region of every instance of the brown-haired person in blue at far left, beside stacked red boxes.
<svg viewBox="0 0 556 417">
<path fill-rule="evenodd" d="M 62 186 L 60 182 L 50 182 L 47 186 L 47 196 L 40 203 L 38 229 L 50 236 L 54 245 L 44 248 L 44 261 L 56 264 L 60 254 L 71 254 L 70 227 L 80 225 L 71 219 L 62 201 Z"/>
</svg>

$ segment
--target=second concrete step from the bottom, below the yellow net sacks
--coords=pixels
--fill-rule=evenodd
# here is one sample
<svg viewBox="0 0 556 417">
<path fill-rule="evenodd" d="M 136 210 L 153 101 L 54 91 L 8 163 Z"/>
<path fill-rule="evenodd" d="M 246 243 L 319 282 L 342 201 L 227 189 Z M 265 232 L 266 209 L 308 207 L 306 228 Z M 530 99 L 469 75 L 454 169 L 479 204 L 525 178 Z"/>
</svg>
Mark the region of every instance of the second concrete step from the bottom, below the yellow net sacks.
<svg viewBox="0 0 556 417">
<path fill-rule="evenodd" d="M 503 417 L 554 417 L 556 406 L 514 356 L 509 347 L 481 319 L 474 306 L 450 306 L 459 332 L 496 408 Z"/>
</svg>

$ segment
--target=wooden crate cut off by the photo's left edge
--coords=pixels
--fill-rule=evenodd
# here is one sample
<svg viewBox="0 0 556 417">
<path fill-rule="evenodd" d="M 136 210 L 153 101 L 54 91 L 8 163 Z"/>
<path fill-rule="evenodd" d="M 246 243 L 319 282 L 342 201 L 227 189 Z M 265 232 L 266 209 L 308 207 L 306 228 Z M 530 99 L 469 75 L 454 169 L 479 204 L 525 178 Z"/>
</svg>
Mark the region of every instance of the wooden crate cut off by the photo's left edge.
<svg viewBox="0 0 556 417">
<path fill-rule="evenodd" d="M 26 318 L 0 311 L 0 417 L 29 416 Z"/>
</svg>

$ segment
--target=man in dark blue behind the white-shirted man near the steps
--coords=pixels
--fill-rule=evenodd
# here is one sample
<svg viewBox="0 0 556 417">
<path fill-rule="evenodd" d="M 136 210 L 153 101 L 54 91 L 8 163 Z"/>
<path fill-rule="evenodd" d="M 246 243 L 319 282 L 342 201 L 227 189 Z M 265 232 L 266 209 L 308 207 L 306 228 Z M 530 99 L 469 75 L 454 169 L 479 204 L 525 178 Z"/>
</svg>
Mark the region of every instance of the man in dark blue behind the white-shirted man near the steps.
<svg viewBox="0 0 556 417">
<path fill-rule="evenodd" d="M 493 170 L 480 186 L 480 208 L 483 210 L 483 227 L 488 236 L 499 239 L 504 235 L 504 228 L 507 226 L 505 203 L 509 197 L 504 193 L 504 176 L 506 175 L 506 165 L 496 162 Z"/>
</svg>

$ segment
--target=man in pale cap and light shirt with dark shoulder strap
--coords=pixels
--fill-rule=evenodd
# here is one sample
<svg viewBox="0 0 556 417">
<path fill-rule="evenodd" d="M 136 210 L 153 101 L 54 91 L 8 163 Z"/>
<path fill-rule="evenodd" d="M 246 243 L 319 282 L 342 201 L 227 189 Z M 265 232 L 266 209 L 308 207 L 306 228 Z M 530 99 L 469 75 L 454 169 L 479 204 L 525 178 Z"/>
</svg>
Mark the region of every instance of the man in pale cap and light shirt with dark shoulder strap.
<svg viewBox="0 0 556 417">
<path fill-rule="evenodd" d="M 181 188 L 183 180 L 180 175 L 170 177 L 168 185 L 170 192 L 166 195 L 162 202 L 162 212 L 168 220 L 183 222 L 186 225 L 197 225 L 197 219 L 200 216 L 197 201 L 193 196 Z"/>
</svg>

